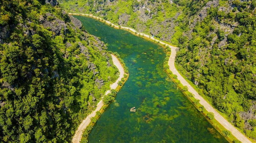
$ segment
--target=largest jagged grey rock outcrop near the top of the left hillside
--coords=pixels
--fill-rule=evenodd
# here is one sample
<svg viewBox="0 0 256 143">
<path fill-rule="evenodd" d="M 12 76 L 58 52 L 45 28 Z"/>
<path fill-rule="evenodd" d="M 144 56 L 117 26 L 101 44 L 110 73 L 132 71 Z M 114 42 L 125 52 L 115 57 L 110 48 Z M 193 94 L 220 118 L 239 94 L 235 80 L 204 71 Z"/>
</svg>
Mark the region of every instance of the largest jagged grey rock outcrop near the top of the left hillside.
<svg viewBox="0 0 256 143">
<path fill-rule="evenodd" d="M 47 13 L 46 17 L 41 17 L 39 21 L 42 22 L 45 28 L 50 28 L 55 35 L 60 35 L 61 30 L 63 30 L 64 34 L 67 33 L 67 24 L 51 13 Z"/>
</svg>

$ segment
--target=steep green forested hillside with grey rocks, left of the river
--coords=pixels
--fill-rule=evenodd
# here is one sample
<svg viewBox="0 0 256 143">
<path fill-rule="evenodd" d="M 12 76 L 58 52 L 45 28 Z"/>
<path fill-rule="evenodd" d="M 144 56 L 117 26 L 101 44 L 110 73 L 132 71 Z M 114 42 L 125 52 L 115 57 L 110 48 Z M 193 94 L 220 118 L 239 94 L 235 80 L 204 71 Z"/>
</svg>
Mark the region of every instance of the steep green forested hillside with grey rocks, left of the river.
<svg viewBox="0 0 256 143">
<path fill-rule="evenodd" d="M 106 45 L 54 0 L 0 13 L 0 142 L 71 142 L 118 77 Z"/>
</svg>

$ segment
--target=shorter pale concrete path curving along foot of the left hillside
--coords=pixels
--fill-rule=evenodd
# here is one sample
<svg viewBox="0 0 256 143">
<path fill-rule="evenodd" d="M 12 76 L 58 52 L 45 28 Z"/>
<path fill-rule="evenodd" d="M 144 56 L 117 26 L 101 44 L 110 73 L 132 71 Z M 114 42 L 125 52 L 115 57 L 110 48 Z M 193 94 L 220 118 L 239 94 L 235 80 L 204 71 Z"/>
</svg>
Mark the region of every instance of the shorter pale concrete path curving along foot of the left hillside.
<svg viewBox="0 0 256 143">
<path fill-rule="evenodd" d="M 111 89 L 116 89 L 116 87 L 118 86 L 118 82 L 121 81 L 122 77 L 124 77 L 124 69 L 123 66 L 121 65 L 121 63 L 119 62 L 119 60 L 112 55 L 112 60 L 114 65 L 118 68 L 120 75 L 118 77 L 118 79 L 116 80 L 116 82 L 114 82 L 113 84 L 110 85 Z M 106 91 L 105 95 L 109 94 L 110 90 Z M 90 124 L 91 122 L 91 117 L 94 117 L 96 115 L 96 112 L 99 111 L 103 106 L 103 101 L 102 99 L 100 100 L 100 102 L 97 104 L 96 109 L 89 114 L 84 120 L 83 122 L 79 125 L 75 135 L 72 138 L 72 143 L 79 143 L 81 141 L 82 135 L 83 135 L 83 130 Z"/>
</svg>

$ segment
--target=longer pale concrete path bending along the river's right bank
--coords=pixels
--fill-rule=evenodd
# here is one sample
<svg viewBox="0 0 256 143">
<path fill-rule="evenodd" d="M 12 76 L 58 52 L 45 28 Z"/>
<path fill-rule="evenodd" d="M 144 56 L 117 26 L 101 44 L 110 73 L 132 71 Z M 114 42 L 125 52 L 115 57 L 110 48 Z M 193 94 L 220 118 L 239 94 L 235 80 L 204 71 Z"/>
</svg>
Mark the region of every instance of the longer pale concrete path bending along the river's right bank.
<svg viewBox="0 0 256 143">
<path fill-rule="evenodd" d="M 89 14 L 76 14 L 76 13 L 68 13 L 70 15 L 85 15 L 85 16 L 90 16 L 90 17 L 93 17 L 93 18 L 96 18 L 96 19 L 100 19 L 102 20 L 101 18 L 99 17 L 96 17 L 96 16 L 93 16 L 93 15 L 89 15 Z M 119 27 L 109 21 L 106 21 L 106 23 L 108 24 L 112 24 L 114 25 L 114 27 Z M 123 28 L 123 29 L 128 29 L 134 33 L 137 33 L 136 30 L 134 29 L 131 29 L 129 27 L 123 27 L 121 26 L 120 28 Z M 230 131 L 232 133 L 232 135 L 234 137 L 236 137 L 238 140 L 240 140 L 242 143 L 251 143 L 251 141 L 246 137 L 244 136 L 241 132 L 239 132 L 233 125 L 231 125 L 226 119 L 224 119 L 204 98 L 202 98 L 197 92 L 196 90 L 179 74 L 179 72 L 177 71 L 177 69 L 175 68 L 174 66 L 174 62 L 175 62 L 175 57 L 176 57 L 176 52 L 179 50 L 178 47 L 174 47 L 174 46 L 171 46 L 171 45 L 168 45 L 162 41 L 159 41 L 157 39 L 155 39 L 154 37 L 152 36 L 149 36 L 149 35 L 146 35 L 146 34 L 143 34 L 143 33 L 137 33 L 137 34 L 140 34 L 140 35 L 143 35 L 145 37 L 148 37 L 152 40 L 155 40 L 156 42 L 159 42 L 160 44 L 163 44 L 163 45 L 167 45 L 171 48 L 171 55 L 169 57 L 169 61 L 168 61 L 168 65 L 169 65 L 169 69 L 170 71 L 172 71 L 173 74 L 176 74 L 177 75 L 177 79 L 180 81 L 180 83 L 182 83 L 182 85 L 184 86 L 187 86 L 188 87 L 188 91 L 191 92 L 192 94 L 194 94 L 195 98 L 196 99 L 199 99 L 200 100 L 200 104 L 202 106 L 205 107 L 205 109 L 208 111 L 208 112 L 213 112 L 214 113 L 214 118 L 223 126 L 225 127 L 228 131 Z"/>
</svg>

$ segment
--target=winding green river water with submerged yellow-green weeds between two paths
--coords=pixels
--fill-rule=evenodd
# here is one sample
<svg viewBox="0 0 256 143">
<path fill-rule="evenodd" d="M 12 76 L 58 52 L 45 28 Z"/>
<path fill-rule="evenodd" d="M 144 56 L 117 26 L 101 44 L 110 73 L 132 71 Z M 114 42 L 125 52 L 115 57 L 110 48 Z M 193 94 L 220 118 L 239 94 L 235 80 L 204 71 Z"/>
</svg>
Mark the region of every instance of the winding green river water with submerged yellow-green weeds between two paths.
<svg viewBox="0 0 256 143">
<path fill-rule="evenodd" d="M 120 54 L 130 74 L 94 125 L 89 142 L 228 142 L 165 73 L 161 46 L 95 19 L 74 17 Z M 134 106 L 137 111 L 130 112 Z"/>
</svg>

